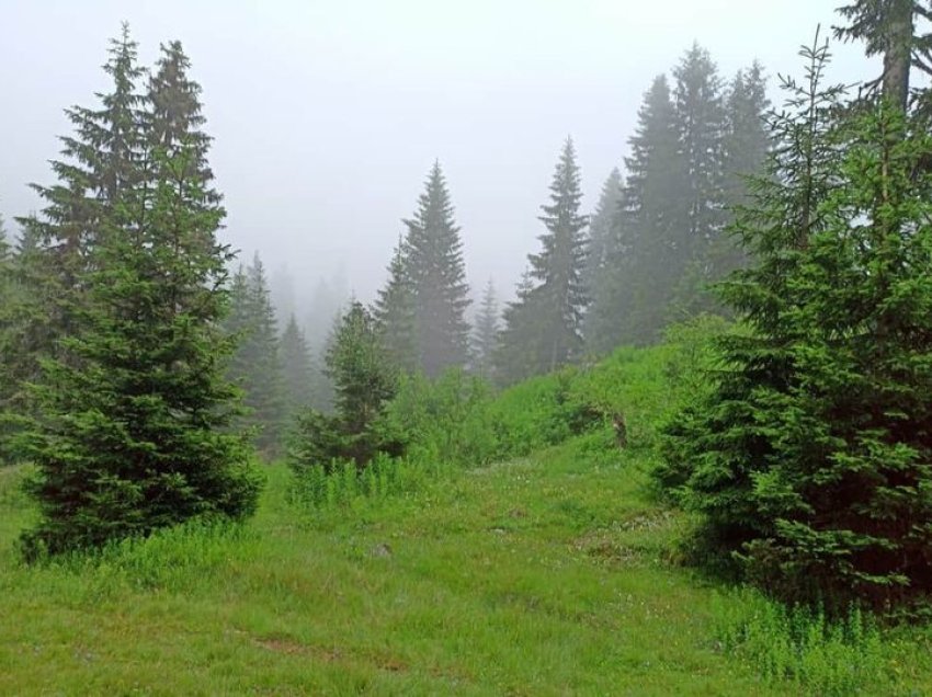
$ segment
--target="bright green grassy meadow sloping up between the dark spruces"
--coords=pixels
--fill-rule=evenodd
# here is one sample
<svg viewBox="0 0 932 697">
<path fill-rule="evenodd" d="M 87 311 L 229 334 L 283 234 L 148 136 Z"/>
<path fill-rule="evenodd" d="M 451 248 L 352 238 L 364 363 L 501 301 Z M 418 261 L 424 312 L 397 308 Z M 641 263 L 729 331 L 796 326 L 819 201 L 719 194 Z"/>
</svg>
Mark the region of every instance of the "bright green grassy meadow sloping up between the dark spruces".
<svg viewBox="0 0 932 697">
<path fill-rule="evenodd" d="M 477 401 L 488 464 L 317 505 L 273 466 L 243 527 L 39 567 L 13 548 L 25 472 L 0 471 L 0 694 L 932 694 L 932 631 L 826 627 L 679 563 L 690 522 L 646 483 L 694 347 Z"/>
</svg>

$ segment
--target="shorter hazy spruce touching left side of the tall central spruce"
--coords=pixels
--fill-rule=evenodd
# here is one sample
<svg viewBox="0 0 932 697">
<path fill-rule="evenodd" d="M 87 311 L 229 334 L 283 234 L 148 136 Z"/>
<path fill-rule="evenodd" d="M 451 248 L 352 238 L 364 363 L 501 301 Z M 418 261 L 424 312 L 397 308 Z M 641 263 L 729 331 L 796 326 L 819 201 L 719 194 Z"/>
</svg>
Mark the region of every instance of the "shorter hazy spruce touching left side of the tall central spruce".
<svg viewBox="0 0 932 697">
<path fill-rule="evenodd" d="M 405 240 L 399 239 L 388 266 L 388 281 L 378 292 L 373 317 L 389 358 L 400 369 L 411 372 L 418 365 L 418 332 L 407 258 Z"/>
</svg>

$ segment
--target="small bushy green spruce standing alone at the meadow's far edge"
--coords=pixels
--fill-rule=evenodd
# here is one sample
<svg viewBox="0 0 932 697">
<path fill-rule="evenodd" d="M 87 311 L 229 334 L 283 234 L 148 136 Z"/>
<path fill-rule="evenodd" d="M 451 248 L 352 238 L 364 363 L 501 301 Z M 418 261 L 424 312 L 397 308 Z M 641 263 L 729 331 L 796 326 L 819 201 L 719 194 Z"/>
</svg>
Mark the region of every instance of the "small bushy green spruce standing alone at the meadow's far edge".
<svg viewBox="0 0 932 697">
<path fill-rule="evenodd" d="M 362 304 L 353 301 L 340 318 L 326 364 L 337 413 L 331 416 L 311 409 L 298 415 L 288 442 L 288 461 L 299 478 L 317 467 L 330 471 L 341 461 L 362 469 L 378 452 L 398 454 L 397 445 L 375 429 L 397 389 L 396 369 L 375 320 Z"/>
</svg>

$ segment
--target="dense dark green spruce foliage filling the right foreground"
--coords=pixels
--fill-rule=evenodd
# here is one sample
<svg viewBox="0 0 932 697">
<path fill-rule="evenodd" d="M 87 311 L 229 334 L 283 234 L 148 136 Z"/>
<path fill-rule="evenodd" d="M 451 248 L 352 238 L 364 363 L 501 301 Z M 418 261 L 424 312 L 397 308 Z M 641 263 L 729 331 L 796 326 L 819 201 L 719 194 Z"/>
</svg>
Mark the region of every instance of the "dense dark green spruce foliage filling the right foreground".
<svg viewBox="0 0 932 697">
<path fill-rule="evenodd" d="M 671 454 L 705 539 L 749 578 L 885 608 L 932 586 L 932 139 L 887 101 L 834 118 L 827 50 L 807 56 L 736 225 L 755 264 L 724 296 L 749 331 Z"/>
</svg>

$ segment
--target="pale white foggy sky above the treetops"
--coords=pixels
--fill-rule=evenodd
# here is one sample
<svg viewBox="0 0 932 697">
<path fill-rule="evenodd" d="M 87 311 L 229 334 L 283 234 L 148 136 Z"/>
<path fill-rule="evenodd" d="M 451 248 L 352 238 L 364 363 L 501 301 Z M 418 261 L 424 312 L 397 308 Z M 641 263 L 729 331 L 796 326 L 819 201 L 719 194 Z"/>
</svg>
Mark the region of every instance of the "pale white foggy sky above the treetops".
<svg viewBox="0 0 932 697">
<path fill-rule="evenodd" d="M 697 41 L 723 77 L 754 58 L 776 84 L 841 0 L 0 0 L 0 213 L 38 206 L 62 107 L 109 89 L 107 38 L 130 23 L 150 65 L 179 38 L 204 88 L 225 239 L 299 294 L 342 264 L 371 299 L 439 158 L 467 274 L 510 294 L 536 249 L 558 150 L 571 134 L 584 206 L 621 165 L 652 77 Z M 837 45 L 831 77 L 871 75 Z M 773 91 L 773 90 L 772 90 Z"/>
</svg>

